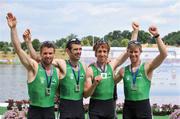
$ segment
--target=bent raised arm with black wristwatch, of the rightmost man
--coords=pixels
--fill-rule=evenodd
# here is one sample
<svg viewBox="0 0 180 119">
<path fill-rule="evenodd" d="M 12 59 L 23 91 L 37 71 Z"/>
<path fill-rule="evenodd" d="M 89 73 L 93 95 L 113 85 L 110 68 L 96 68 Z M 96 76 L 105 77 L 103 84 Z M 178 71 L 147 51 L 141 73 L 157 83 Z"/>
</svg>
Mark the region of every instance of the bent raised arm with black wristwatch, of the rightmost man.
<svg viewBox="0 0 180 119">
<path fill-rule="evenodd" d="M 156 43 L 158 46 L 159 54 L 146 65 L 146 73 L 152 73 L 155 68 L 157 68 L 167 57 L 167 50 L 164 42 L 162 41 L 158 29 L 156 26 L 149 27 L 149 32 L 156 38 Z"/>
</svg>

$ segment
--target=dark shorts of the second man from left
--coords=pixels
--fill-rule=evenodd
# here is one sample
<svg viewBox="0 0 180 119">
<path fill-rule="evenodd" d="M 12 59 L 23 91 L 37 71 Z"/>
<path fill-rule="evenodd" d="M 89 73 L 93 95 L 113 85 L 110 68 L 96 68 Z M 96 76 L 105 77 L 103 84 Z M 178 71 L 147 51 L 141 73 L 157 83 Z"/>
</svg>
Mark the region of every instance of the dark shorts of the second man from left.
<svg viewBox="0 0 180 119">
<path fill-rule="evenodd" d="M 84 119 L 83 100 L 60 99 L 59 112 L 59 119 Z"/>
</svg>

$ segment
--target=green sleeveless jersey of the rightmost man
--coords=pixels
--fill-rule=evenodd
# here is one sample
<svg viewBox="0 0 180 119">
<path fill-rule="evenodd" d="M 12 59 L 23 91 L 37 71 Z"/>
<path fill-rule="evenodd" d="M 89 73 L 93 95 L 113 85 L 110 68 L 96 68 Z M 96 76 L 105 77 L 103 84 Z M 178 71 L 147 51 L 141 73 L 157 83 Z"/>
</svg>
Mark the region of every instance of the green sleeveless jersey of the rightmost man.
<svg viewBox="0 0 180 119">
<path fill-rule="evenodd" d="M 140 65 L 138 74 L 136 76 L 135 89 L 133 89 L 133 77 L 131 74 L 130 65 L 125 67 L 124 72 L 124 94 L 125 100 L 140 101 L 149 99 L 149 91 L 151 87 L 151 81 L 148 80 L 145 70 L 144 63 Z"/>
</svg>

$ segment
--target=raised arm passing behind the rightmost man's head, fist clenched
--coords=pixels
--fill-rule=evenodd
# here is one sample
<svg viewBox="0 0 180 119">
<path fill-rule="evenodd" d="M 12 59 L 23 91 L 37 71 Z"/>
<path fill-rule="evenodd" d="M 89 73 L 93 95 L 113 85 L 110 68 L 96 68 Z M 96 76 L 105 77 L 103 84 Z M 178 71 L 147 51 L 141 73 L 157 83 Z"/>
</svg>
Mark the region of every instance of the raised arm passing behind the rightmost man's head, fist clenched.
<svg viewBox="0 0 180 119">
<path fill-rule="evenodd" d="M 131 40 L 137 40 L 138 37 L 138 31 L 139 31 L 139 24 L 137 22 L 132 23 L 132 35 L 131 35 Z M 119 65 L 123 64 L 128 58 L 127 51 L 124 51 L 122 54 L 120 54 L 116 59 L 112 60 L 110 62 L 113 70 L 115 70 Z"/>
</svg>

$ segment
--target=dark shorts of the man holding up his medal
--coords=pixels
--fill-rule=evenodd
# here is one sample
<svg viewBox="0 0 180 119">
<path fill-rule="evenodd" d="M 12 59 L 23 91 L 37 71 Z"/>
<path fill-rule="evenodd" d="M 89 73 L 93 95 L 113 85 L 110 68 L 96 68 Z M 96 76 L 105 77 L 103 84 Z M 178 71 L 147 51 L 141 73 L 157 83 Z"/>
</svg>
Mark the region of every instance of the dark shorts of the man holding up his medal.
<svg viewBox="0 0 180 119">
<path fill-rule="evenodd" d="M 114 100 L 90 99 L 90 119 L 114 119 Z"/>
</svg>

